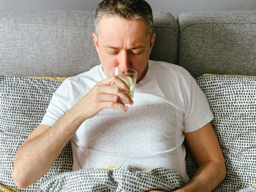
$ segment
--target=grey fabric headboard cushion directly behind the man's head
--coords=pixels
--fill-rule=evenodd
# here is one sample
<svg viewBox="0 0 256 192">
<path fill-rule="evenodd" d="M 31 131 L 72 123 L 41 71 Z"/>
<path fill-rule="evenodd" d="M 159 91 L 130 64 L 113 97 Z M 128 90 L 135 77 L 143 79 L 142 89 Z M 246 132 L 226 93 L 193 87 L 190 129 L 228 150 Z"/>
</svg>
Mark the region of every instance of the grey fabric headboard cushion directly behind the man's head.
<svg viewBox="0 0 256 192">
<path fill-rule="evenodd" d="M 1 74 L 73 76 L 99 64 L 91 34 L 94 12 L 1 11 Z M 176 64 L 178 25 L 168 12 L 154 12 L 157 34 L 151 59 Z"/>
</svg>

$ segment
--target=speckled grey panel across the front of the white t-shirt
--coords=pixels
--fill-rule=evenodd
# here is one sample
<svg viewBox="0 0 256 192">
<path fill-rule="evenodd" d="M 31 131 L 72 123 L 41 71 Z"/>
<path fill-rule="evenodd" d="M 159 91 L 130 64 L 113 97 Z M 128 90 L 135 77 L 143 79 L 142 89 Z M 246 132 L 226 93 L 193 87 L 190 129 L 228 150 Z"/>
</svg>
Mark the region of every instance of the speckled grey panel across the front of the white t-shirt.
<svg viewBox="0 0 256 192">
<path fill-rule="evenodd" d="M 127 112 L 102 110 L 75 134 L 77 145 L 99 151 L 159 152 L 176 145 L 176 110 L 170 104 L 130 106 Z"/>
</svg>

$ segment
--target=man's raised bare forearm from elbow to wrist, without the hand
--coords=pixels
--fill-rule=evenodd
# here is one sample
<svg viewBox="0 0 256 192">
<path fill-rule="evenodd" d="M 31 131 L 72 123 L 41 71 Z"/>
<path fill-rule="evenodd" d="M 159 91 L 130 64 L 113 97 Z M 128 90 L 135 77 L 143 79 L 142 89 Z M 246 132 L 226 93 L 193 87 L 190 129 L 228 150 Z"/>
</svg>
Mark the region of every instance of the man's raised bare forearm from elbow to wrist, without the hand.
<svg viewBox="0 0 256 192">
<path fill-rule="evenodd" d="M 39 125 L 15 154 L 12 179 L 18 188 L 39 180 L 67 145 L 80 122 L 74 112 L 67 112 L 52 127 Z"/>
</svg>

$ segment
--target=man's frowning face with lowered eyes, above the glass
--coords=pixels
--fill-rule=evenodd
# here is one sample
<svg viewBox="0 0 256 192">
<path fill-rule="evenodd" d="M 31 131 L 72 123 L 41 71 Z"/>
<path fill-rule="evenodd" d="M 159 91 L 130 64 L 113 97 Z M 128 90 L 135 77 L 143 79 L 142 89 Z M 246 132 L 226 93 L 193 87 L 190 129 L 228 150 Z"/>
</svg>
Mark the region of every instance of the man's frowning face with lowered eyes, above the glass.
<svg viewBox="0 0 256 192">
<path fill-rule="evenodd" d="M 137 80 L 143 78 L 155 39 L 155 34 L 150 38 L 146 24 L 103 15 L 99 20 L 98 35 L 92 36 L 107 77 L 110 68 L 118 67 L 135 69 Z"/>
</svg>

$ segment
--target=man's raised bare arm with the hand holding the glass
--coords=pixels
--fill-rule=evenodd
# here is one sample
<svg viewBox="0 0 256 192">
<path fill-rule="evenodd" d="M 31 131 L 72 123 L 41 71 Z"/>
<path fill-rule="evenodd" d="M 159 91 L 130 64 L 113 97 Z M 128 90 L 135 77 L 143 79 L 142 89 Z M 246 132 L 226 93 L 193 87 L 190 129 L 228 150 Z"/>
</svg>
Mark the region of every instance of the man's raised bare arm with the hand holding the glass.
<svg viewBox="0 0 256 192">
<path fill-rule="evenodd" d="M 111 87 L 113 84 L 119 88 Z M 28 187 L 48 172 L 84 120 L 94 117 L 103 109 L 127 111 L 128 107 L 120 98 L 128 104 L 132 104 L 132 99 L 121 89 L 128 91 L 127 85 L 115 76 L 97 82 L 53 126 L 39 125 L 15 154 L 12 179 L 18 188 Z"/>
</svg>

